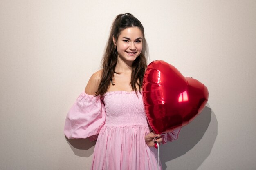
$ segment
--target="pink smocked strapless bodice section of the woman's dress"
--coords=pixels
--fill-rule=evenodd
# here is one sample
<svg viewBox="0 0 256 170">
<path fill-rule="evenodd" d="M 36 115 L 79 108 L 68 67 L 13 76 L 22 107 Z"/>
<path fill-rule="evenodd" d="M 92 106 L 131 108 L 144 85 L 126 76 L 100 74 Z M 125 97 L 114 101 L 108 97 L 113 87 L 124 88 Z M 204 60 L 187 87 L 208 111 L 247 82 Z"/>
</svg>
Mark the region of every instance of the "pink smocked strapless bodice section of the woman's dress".
<svg viewBox="0 0 256 170">
<path fill-rule="evenodd" d="M 141 93 L 112 91 L 103 96 L 105 126 L 148 126 Z"/>
</svg>

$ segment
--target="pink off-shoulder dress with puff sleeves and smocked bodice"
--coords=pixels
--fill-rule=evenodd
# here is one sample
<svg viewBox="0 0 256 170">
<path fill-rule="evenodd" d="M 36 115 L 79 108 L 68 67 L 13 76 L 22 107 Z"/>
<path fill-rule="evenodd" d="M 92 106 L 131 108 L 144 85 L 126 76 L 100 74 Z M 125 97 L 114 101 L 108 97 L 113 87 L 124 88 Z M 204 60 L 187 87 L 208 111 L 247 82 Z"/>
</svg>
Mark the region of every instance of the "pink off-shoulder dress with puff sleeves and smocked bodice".
<svg viewBox="0 0 256 170">
<path fill-rule="evenodd" d="M 67 114 L 69 139 L 96 140 L 91 170 L 157 170 L 157 149 L 148 147 L 150 133 L 142 95 L 112 91 L 102 97 L 81 93 Z M 163 143 L 177 139 L 180 129 L 164 135 Z M 159 169 L 162 169 L 159 167 Z"/>
</svg>

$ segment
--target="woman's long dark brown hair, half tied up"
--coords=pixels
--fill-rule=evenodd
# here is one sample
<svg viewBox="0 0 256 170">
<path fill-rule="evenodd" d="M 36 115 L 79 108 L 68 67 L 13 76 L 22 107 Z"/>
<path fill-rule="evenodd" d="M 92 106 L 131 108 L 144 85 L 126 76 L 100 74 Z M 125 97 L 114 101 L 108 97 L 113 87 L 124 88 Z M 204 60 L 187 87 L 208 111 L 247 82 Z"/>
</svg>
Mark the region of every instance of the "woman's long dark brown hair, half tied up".
<svg viewBox="0 0 256 170">
<path fill-rule="evenodd" d="M 139 91 L 141 91 L 143 77 L 147 67 L 147 61 L 146 61 L 147 43 L 144 37 L 144 28 L 141 22 L 137 18 L 135 18 L 132 14 L 125 13 L 125 14 L 117 15 L 117 17 L 115 18 L 111 26 L 110 35 L 108 38 L 108 42 L 106 44 L 105 53 L 102 58 L 103 71 L 101 74 L 101 81 L 99 83 L 99 87 L 97 89 L 96 95 L 103 95 L 104 93 L 106 93 L 108 90 L 108 87 L 110 86 L 110 83 L 112 83 L 112 85 L 115 85 L 112 81 L 112 78 L 114 77 L 114 73 L 116 73 L 115 67 L 117 65 L 117 49 L 115 49 L 113 37 L 115 38 L 115 40 L 117 40 L 121 31 L 129 27 L 138 27 L 143 34 L 142 51 L 132 64 L 132 74 L 131 74 L 131 82 L 130 82 L 130 85 L 132 86 L 132 91 L 137 92 L 138 89 L 136 88 L 136 84 L 139 85 Z"/>
</svg>

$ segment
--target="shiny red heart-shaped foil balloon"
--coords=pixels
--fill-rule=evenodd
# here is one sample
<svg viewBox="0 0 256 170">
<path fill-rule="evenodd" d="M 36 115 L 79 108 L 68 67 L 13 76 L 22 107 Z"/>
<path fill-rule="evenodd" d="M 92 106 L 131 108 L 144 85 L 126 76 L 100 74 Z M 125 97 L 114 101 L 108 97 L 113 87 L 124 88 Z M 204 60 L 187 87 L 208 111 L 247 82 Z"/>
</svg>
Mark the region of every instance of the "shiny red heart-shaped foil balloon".
<svg viewBox="0 0 256 170">
<path fill-rule="evenodd" d="M 203 110 L 209 97 L 204 84 L 184 77 L 162 60 L 148 65 L 142 95 L 148 123 L 157 134 L 189 124 Z"/>
</svg>

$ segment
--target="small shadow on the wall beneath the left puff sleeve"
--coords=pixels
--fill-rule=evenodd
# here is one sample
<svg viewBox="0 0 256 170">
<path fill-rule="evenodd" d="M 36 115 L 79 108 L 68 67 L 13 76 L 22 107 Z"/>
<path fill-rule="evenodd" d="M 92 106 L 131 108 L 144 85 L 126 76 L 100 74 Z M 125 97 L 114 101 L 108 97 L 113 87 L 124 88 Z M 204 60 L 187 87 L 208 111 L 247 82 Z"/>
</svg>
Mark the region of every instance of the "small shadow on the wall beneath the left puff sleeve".
<svg viewBox="0 0 256 170">
<path fill-rule="evenodd" d="M 65 138 L 75 155 L 79 157 L 90 157 L 90 155 L 93 154 L 96 141 L 91 142 L 89 139 L 67 139 L 67 137 Z"/>
</svg>

